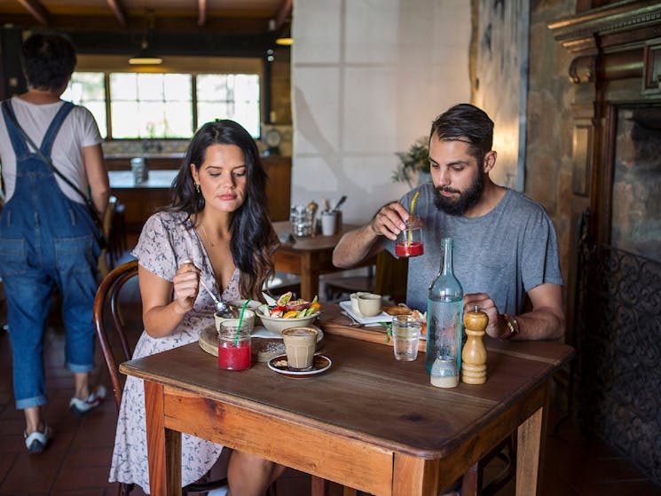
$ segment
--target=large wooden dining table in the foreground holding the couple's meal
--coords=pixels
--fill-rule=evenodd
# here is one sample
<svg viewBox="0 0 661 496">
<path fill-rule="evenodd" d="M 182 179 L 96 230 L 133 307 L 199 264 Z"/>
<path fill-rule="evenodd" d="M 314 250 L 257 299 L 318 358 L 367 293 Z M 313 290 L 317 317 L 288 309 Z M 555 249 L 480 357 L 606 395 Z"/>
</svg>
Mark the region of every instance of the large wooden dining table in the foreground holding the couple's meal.
<svg viewBox="0 0 661 496">
<path fill-rule="evenodd" d="M 145 383 L 152 494 L 181 494 L 182 432 L 309 473 L 315 495 L 328 480 L 436 496 L 513 431 L 516 494 L 536 494 L 549 384 L 571 347 L 487 339 L 487 382 L 438 389 L 422 357 L 394 358 L 383 327 L 349 327 L 336 305 L 321 315 L 332 365 L 308 378 L 221 370 L 195 342 L 122 364 Z"/>
</svg>

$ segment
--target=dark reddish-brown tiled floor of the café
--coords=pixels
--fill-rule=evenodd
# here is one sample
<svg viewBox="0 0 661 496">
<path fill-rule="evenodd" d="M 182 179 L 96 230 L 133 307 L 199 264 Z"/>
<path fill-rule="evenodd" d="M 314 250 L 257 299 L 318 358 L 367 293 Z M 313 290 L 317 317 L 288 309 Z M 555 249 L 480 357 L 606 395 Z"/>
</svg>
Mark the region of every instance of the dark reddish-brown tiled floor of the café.
<svg viewBox="0 0 661 496">
<path fill-rule="evenodd" d="M 2 316 L 0 316 L 2 317 Z M 139 314 L 133 317 L 139 325 Z M 107 482 L 117 414 L 112 399 L 77 419 L 69 413 L 73 379 L 63 369 L 64 339 L 51 328 L 44 350 L 50 403 L 44 415 L 55 431 L 51 446 L 29 456 L 23 444 L 23 415 L 12 398 L 12 353 L 9 335 L 0 335 L 0 496 L 104 496 L 117 494 Z M 100 356 L 95 377 L 108 384 Z M 571 422 L 564 422 L 557 435 L 546 440 L 541 496 L 661 496 L 661 487 L 598 440 L 586 439 Z M 492 467 L 487 477 L 498 467 Z M 308 477 L 287 472 L 278 486 L 279 496 L 304 496 Z M 514 495 L 510 483 L 500 496 Z M 137 488 L 135 496 L 144 494 Z"/>
</svg>

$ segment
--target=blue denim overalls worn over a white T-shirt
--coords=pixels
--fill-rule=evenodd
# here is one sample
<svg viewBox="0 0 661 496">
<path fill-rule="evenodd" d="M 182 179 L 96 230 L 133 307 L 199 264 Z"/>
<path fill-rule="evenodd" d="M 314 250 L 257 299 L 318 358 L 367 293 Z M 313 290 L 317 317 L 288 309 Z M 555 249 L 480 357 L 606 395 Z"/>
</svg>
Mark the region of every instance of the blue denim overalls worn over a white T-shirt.
<svg viewBox="0 0 661 496">
<path fill-rule="evenodd" d="M 9 101 L 11 108 L 11 100 Z M 65 102 L 40 147 L 49 157 L 55 137 L 74 106 Z M 4 113 L 16 154 L 16 188 L 0 215 L 0 277 L 7 294 L 12 341 L 14 398 L 18 409 L 45 405 L 43 332 L 53 289 L 62 295 L 67 344 L 65 361 L 74 373 L 94 367 L 92 305 L 98 256 L 87 207 L 59 189 L 51 167 L 30 152 Z"/>
</svg>

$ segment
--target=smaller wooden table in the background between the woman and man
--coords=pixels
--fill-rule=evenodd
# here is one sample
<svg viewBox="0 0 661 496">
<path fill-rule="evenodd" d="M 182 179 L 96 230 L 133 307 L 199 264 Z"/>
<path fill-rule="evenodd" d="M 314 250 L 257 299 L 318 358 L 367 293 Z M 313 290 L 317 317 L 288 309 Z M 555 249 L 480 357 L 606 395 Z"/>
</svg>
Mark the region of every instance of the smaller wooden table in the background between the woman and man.
<svg viewBox="0 0 661 496">
<path fill-rule="evenodd" d="M 295 274 L 301 278 L 301 297 L 310 301 L 319 292 L 319 276 L 332 272 L 340 272 L 345 269 L 335 267 L 333 264 L 333 248 L 346 232 L 359 227 L 353 224 L 342 224 L 339 232 L 332 236 L 295 237 L 292 235 L 291 242 L 283 242 L 273 255 L 273 264 L 277 272 Z M 292 232 L 289 221 L 273 223 L 273 228 L 282 239 L 287 232 Z M 376 257 L 370 257 L 357 267 L 374 265 Z"/>
</svg>

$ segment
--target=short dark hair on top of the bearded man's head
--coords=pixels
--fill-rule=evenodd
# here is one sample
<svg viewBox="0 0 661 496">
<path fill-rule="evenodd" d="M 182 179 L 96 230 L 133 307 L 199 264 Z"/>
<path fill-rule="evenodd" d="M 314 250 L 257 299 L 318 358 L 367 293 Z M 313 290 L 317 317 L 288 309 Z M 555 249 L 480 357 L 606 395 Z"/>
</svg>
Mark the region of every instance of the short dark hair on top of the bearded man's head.
<svg viewBox="0 0 661 496">
<path fill-rule="evenodd" d="M 429 137 L 436 134 L 441 141 L 468 143 L 468 152 L 477 160 L 492 149 L 493 121 L 484 110 L 468 103 L 452 106 L 431 123 Z"/>
</svg>

